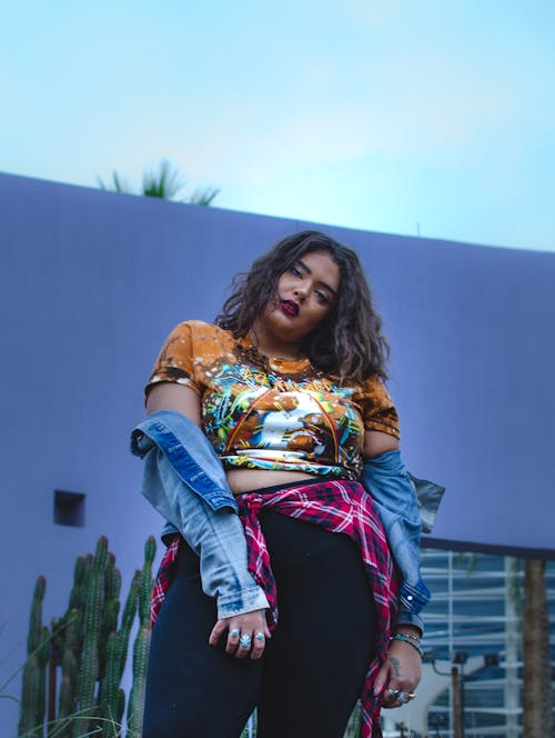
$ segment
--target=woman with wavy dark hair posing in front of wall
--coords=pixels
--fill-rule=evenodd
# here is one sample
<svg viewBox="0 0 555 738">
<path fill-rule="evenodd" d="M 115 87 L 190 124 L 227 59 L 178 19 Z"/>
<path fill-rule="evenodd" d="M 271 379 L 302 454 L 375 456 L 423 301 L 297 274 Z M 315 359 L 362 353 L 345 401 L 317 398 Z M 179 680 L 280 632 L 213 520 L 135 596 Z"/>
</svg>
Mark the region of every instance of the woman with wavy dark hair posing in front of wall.
<svg viewBox="0 0 555 738">
<path fill-rule="evenodd" d="M 380 706 L 414 697 L 417 608 L 401 597 L 395 616 L 360 483 L 365 460 L 398 453 L 386 355 L 356 255 L 316 231 L 259 258 L 215 326 L 168 338 L 135 436 L 171 523 L 143 738 L 236 737 L 254 707 L 259 738 L 335 738 L 361 695 L 362 732 L 380 735 Z"/>
</svg>

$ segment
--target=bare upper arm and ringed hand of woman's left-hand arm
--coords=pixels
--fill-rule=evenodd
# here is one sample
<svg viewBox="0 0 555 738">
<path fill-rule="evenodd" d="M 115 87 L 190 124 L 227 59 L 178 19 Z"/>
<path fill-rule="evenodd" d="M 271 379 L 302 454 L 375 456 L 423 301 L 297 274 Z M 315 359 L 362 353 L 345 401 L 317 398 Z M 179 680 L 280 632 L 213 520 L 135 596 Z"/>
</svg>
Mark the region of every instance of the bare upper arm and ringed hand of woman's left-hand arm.
<svg viewBox="0 0 555 738">
<path fill-rule="evenodd" d="M 155 410 L 181 412 L 196 426 L 201 426 L 200 398 L 190 387 L 172 382 L 162 382 L 152 387 L 147 399 L 147 412 L 150 415 Z M 265 638 L 270 637 L 265 610 L 254 610 L 219 619 L 210 634 L 209 644 L 216 646 L 225 630 L 228 630 L 225 650 L 238 658 L 244 658 L 249 655 L 253 659 L 260 658 L 264 651 Z M 260 632 L 263 634 L 264 638 L 255 638 Z M 243 635 L 251 638 L 252 648 L 242 648 L 239 645 L 240 637 Z"/>
</svg>

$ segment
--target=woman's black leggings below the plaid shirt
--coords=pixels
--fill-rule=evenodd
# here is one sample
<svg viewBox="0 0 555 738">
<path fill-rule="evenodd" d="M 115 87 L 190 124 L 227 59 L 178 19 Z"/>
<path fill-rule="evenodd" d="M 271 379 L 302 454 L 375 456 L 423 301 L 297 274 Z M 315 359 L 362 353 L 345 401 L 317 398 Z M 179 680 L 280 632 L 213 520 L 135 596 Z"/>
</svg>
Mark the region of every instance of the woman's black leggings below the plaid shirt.
<svg viewBox="0 0 555 738">
<path fill-rule="evenodd" d="M 374 602 L 351 539 L 261 513 L 279 624 L 259 660 L 208 645 L 218 616 L 184 542 L 152 632 L 143 738 L 238 738 L 258 707 L 258 738 L 340 738 L 372 659 Z"/>
</svg>

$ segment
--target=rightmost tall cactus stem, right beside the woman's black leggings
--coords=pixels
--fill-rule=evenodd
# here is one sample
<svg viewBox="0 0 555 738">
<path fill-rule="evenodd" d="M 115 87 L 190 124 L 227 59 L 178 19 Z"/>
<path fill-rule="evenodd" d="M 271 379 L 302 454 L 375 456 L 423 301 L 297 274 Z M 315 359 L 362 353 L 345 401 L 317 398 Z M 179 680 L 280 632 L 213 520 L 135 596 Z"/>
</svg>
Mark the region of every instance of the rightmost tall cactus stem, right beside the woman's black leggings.
<svg viewBox="0 0 555 738">
<path fill-rule="evenodd" d="M 133 645 L 133 685 L 128 705 L 128 738 L 140 738 L 142 714 L 144 709 L 144 690 L 147 684 L 147 662 L 149 658 L 150 637 L 150 600 L 152 597 L 152 562 L 157 552 L 157 542 L 150 536 L 144 545 L 144 564 L 141 571 L 139 588 L 139 632 Z"/>
</svg>

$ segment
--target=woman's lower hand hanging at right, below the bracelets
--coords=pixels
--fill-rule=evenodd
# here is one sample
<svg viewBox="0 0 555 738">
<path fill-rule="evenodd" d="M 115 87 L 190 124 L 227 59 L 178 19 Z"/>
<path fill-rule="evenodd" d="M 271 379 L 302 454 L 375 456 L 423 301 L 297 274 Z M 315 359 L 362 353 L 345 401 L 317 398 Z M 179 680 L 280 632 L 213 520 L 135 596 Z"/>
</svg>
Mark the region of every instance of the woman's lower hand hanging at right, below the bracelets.
<svg viewBox="0 0 555 738">
<path fill-rule="evenodd" d="M 382 694 L 383 707 L 401 707 L 412 697 L 398 700 L 400 692 L 413 695 L 422 676 L 422 659 L 418 651 L 402 640 L 392 640 L 387 658 L 377 672 L 374 692 Z"/>
</svg>

